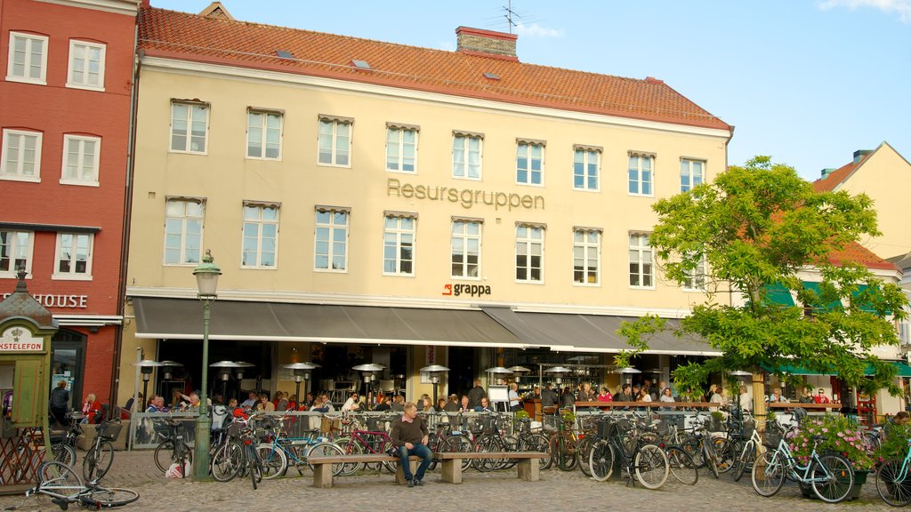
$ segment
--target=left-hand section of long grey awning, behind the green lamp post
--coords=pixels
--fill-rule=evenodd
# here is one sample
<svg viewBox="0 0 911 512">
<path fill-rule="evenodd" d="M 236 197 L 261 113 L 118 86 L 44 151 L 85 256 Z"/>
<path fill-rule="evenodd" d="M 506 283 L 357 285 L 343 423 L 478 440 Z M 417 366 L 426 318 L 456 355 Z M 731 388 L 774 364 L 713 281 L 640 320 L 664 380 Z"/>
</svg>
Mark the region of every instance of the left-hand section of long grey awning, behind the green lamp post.
<svg viewBox="0 0 911 512">
<path fill-rule="evenodd" d="M 202 338 L 199 301 L 133 297 L 132 302 L 138 338 Z M 481 311 L 283 302 L 212 302 L 209 337 L 517 348 L 528 345 Z"/>
</svg>

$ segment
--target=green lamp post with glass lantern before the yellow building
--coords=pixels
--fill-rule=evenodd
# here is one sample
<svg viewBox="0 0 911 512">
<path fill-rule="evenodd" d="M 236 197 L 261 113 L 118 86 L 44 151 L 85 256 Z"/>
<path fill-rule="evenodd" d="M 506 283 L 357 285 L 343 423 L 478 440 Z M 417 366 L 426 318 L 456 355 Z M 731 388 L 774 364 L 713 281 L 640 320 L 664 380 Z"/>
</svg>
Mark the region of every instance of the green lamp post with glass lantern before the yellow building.
<svg viewBox="0 0 911 512">
<path fill-rule="evenodd" d="M 198 288 L 197 298 L 202 302 L 202 386 L 200 387 L 200 417 L 196 420 L 196 464 L 193 465 L 193 478 L 209 479 L 209 435 L 212 427 L 212 416 L 209 414 L 209 323 L 211 320 L 212 302 L 218 298 L 218 285 L 221 269 L 212 262 L 212 253 L 206 251 L 200 264 L 193 269 Z"/>
</svg>

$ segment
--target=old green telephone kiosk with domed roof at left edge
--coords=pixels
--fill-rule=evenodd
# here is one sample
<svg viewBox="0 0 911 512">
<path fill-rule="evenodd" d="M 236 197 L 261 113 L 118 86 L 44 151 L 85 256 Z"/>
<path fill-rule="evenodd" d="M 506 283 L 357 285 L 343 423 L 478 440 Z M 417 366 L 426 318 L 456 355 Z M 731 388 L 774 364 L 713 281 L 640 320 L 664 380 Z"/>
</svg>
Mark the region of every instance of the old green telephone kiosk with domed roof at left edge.
<svg viewBox="0 0 911 512">
<path fill-rule="evenodd" d="M 38 465 L 50 451 L 47 398 L 51 312 L 26 290 L 20 271 L 15 292 L 0 302 L 0 494 L 34 486 Z"/>
</svg>

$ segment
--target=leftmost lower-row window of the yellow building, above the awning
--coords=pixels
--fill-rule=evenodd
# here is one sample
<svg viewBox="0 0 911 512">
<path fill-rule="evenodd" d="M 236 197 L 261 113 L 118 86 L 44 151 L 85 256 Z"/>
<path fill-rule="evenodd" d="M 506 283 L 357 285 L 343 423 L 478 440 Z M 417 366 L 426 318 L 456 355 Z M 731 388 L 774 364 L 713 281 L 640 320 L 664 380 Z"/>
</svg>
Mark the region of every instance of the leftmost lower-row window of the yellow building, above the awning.
<svg viewBox="0 0 911 512">
<path fill-rule="evenodd" d="M 165 206 L 166 265 L 196 265 L 202 255 L 202 227 L 206 203 L 169 199 Z"/>
</svg>

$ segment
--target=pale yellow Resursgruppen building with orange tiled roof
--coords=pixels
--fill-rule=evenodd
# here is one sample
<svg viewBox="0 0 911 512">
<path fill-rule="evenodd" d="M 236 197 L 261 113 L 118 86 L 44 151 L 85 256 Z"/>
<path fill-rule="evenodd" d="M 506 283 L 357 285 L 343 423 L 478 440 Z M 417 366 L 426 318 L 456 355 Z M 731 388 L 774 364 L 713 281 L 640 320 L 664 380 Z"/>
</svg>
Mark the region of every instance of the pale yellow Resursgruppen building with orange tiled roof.
<svg viewBox="0 0 911 512">
<path fill-rule="evenodd" d="M 441 393 L 496 365 L 616 384 L 622 320 L 704 299 L 700 276 L 681 289 L 654 265 L 650 207 L 725 169 L 733 128 L 655 78 L 456 36 L 447 52 L 142 10 L 121 394 L 138 349 L 198 378 L 206 250 L 210 361 L 255 364 L 271 392 L 307 360 L 314 389 L 379 363 L 408 398 L 432 393 L 428 364 L 451 368 Z M 706 349 L 668 336 L 645 365 L 667 378 Z"/>
</svg>

